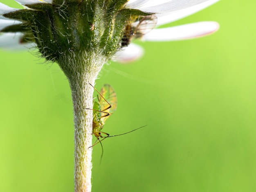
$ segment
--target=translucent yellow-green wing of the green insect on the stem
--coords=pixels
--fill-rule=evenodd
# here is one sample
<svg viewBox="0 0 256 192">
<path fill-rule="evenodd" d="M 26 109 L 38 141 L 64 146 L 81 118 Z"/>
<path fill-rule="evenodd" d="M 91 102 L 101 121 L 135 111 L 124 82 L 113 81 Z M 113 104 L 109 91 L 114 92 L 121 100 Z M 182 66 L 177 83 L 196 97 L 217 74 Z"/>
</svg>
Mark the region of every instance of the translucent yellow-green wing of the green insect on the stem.
<svg viewBox="0 0 256 192">
<path fill-rule="evenodd" d="M 103 112 L 107 112 L 111 115 L 117 109 L 116 93 L 115 93 L 114 89 L 109 84 L 105 84 L 101 88 L 101 95 L 103 96 L 103 98 L 105 98 L 105 99 L 99 98 L 101 110 Z M 108 102 L 106 102 L 106 100 Z M 111 107 L 109 109 L 107 109 L 110 105 L 111 105 Z M 106 110 L 104 110 L 104 109 L 106 109 Z M 101 116 L 106 115 L 106 113 L 103 113 L 103 112 L 101 112 Z M 109 116 L 102 117 L 102 121 L 105 123 Z"/>
</svg>

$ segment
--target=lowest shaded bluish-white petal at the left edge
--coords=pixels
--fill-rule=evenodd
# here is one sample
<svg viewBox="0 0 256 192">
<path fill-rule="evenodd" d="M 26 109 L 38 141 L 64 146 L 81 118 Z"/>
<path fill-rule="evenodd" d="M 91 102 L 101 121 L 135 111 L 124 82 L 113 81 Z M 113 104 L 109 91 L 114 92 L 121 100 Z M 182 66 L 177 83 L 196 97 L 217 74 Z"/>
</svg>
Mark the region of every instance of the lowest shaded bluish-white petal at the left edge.
<svg viewBox="0 0 256 192">
<path fill-rule="evenodd" d="M 27 49 L 35 47 L 33 43 L 20 43 L 22 33 L 3 33 L 0 35 L 0 49 Z"/>
</svg>

